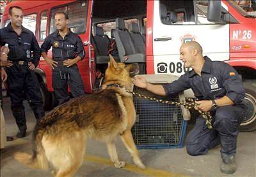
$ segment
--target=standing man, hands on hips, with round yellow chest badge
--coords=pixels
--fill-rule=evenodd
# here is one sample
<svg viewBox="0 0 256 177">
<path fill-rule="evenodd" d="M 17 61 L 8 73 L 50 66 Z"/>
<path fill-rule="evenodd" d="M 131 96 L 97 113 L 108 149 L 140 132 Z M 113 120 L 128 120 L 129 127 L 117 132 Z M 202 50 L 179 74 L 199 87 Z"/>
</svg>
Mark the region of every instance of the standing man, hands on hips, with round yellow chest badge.
<svg viewBox="0 0 256 177">
<path fill-rule="evenodd" d="M 58 12 L 55 15 L 57 30 L 45 38 L 41 46 L 42 56 L 52 67 L 52 86 L 58 104 L 70 99 L 68 84 L 73 97 L 84 94 L 83 80 L 76 62 L 84 58 L 83 43 L 79 36 L 68 29 L 68 16 Z M 52 46 L 52 59 L 47 52 Z"/>
</svg>

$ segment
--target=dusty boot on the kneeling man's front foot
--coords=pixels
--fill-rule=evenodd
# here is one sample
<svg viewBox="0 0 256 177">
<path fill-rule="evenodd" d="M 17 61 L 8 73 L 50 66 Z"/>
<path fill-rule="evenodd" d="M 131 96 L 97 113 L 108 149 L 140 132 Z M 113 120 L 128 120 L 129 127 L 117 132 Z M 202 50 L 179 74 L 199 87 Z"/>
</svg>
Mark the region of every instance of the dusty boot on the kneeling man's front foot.
<svg viewBox="0 0 256 177">
<path fill-rule="evenodd" d="M 226 156 L 222 158 L 221 173 L 233 174 L 236 172 L 236 157 Z"/>
</svg>

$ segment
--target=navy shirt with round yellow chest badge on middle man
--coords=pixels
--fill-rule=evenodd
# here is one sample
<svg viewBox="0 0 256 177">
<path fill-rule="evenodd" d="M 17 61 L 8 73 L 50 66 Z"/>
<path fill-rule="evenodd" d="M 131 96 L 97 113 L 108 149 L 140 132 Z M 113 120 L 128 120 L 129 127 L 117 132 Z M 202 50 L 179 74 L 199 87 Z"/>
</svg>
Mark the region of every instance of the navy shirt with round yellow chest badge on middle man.
<svg viewBox="0 0 256 177">
<path fill-rule="evenodd" d="M 52 58 L 54 60 L 74 59 L 77 55 L 81 59 L 84 58 L 84 47 L 81 38 L 70 30 L 64 39 L 58 30 L 52 32 L 52 34 L 45 38 L 44 43 L 41 45 L 41 52 L 48 52 L 51 46 Z"/>
</svg>

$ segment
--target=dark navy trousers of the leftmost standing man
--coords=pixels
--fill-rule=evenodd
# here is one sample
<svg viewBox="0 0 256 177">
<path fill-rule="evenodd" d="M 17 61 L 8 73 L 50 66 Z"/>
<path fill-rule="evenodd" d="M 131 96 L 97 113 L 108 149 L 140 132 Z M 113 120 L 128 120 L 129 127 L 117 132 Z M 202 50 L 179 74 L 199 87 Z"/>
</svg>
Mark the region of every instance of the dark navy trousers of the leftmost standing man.
<svg viewBox="0 0 256 177">
<path fill-rule="evenodd" d="M 29 99 L 30 106 L 34 112 L 36 120 L 44 117 L 44 109 L 42 107 L 42 96 L 40 86 L 38 84 L 34 71 L 28 69 L 28 65 L 14 64 L 10 68 L 6 68 L 8 74 L 7 83 L 11 98 L 11 109 L 13 117 L 20 131 L 27 129 L 25 109 L 23 101 Z"/>
</svg>

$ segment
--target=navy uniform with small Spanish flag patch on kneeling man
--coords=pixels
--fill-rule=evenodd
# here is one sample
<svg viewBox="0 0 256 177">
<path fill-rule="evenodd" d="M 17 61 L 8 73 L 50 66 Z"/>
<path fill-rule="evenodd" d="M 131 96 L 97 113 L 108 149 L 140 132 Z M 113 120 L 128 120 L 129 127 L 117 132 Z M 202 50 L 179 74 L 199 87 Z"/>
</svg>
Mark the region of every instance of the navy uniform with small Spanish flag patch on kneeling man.
<svg viewBox="0 0 256 177">
<path fill-rule="evenodd" d="M 242 99 L 245 96 L 243 83 L 236 70 L 225 62 L 211 61 L 204 57 L 201 76 L 195 71 L 180 76 L 179 80 L 163 85 L 167 95 L 177 94 L 192 88 L 199 100 L 214 100 L 227 96 L 234 105 L 221 106 L 211 110 L 213 129 L 208 129 L 205 119 L 199 117 L 194 129 L 187 137 L 189 155 L 202 155 L 221 143 L 221 157 L 234 156 L 238 127 L 244 117 Z"/>
</svg>

